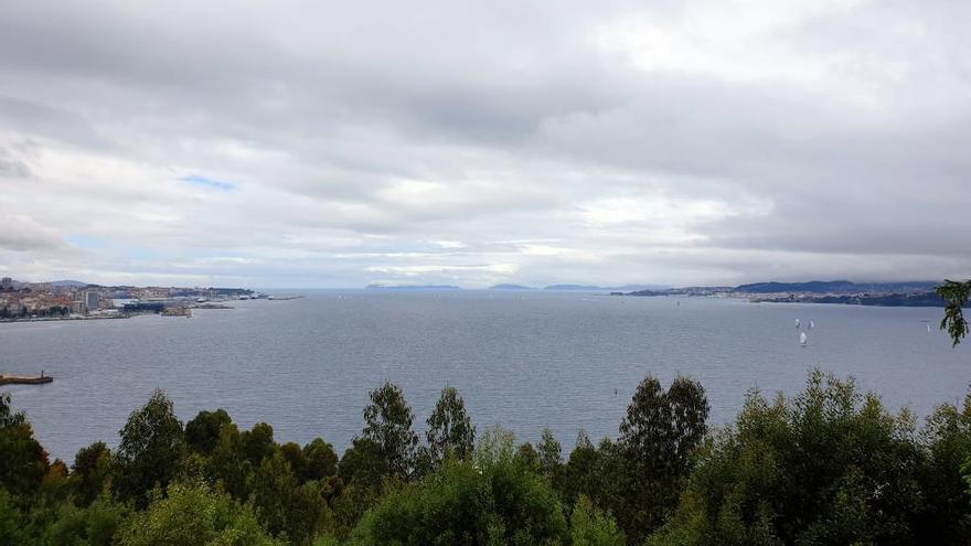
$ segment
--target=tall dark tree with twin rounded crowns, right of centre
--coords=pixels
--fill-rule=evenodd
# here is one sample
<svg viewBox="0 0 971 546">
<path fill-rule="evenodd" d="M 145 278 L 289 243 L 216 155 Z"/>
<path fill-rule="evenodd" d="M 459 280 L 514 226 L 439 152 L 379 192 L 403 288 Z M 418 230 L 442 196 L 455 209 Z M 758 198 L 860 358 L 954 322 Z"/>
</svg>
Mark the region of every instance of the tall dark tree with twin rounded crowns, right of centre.
<svg viewBox="0 0 971 546">
<path fill-rule="evenodd" d="M 700 383 L 676 377 L 665 393 L 645 377 L 620 424 L 616 460 L 618 504 L 611 506 L 627 535 L 640 542 L 677 504 L 693 451 L 707 432 L 708 402 Z"/>
</svg>

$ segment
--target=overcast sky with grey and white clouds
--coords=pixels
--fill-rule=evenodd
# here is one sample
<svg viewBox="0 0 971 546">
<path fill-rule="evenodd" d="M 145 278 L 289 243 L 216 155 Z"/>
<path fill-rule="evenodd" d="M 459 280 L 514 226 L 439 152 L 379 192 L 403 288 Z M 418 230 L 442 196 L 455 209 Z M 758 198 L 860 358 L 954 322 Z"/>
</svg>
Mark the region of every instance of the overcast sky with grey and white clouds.
<svg viewBox="0 0 971 546">
<path fill-rule="evenodd" d="M 46 1 L 0 17 L 0 275 L 971 275 L 971 2 Z"/>
</svg>

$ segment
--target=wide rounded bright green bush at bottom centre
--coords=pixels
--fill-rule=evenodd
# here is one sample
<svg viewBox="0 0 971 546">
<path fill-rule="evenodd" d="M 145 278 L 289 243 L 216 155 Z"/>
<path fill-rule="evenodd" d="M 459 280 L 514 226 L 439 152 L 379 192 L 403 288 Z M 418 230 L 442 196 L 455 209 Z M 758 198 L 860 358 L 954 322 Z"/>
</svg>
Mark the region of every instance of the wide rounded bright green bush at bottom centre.
<svg viewBox="0 0 971 546">
<path fill-rule="evenodd" d="M 564 544 L 556 494 L 513 453 L 511 435 L 487 433 L 474 460 L 448 459 L 422 481 L 391 490 L 361 520 L 353 544 Z"/>
</svg>

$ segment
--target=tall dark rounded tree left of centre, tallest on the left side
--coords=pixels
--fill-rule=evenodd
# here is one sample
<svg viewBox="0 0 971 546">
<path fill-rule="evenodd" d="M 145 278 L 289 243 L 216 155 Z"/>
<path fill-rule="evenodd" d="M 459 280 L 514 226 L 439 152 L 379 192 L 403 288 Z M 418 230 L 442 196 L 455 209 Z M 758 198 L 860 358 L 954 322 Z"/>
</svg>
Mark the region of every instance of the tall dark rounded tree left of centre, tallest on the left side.
<svg viewBox="0 0 971 546">
<path fill-rule="evenodd" d="M 164 488 L 179 470 L 185 441 L 172 400 L 156 389 L 148 403 L 128 417 L 115 458 L 115 488 L 124 500 L 145 506 L 148 492 Z"/>
</svg>

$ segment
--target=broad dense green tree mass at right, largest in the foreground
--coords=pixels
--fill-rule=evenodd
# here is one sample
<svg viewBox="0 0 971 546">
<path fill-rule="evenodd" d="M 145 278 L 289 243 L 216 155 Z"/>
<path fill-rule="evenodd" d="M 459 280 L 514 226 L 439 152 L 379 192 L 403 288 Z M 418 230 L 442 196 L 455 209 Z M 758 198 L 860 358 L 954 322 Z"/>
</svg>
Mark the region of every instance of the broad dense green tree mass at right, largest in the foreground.
<svg viewBox="0 0 971 546">
<path fill-rule="evenodd" d="M 815 371 L 792 402 L 748 396 L 651 544 L 909 544 L 920 454 L 908 414 Z"/>
</svg>

